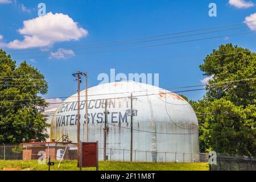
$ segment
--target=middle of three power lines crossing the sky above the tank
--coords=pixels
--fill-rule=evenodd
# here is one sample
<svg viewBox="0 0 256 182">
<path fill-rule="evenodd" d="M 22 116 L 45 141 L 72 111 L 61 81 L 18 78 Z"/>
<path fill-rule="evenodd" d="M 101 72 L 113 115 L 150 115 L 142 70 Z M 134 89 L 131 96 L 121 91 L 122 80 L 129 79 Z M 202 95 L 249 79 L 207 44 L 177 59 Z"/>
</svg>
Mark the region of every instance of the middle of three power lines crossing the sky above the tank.
<svg viewBox="0 0 256 182">
<path fill-rule="evenodd" d="M 250 26 L 256 26 L 256 24 L 250 25 Z M 129 45 L 129 44 L 138 44 L 138 43 L 147 43 L 147 42 L 155 42 L 155 41 L 159 41 L 159 40 L 168 40 L 168 39 L 175 39 L 175 38 L 184 38 L 184 37 L 188 37 L 188 36 L 195 36 L 195 35 L 203 35 L 203 34 L 210 34 L 210 33 L 214 33 L 214 32 L 222 32 L 222 31 L 229 31 L 229 30 L 238 30 L 240 28 L 247 28 L 250 26 L 242 26 L 242 27 L 236 27 L 236 28 L 228 28 L 228 29 L 224 29 L 224 30 L 216 30 L 216 31 L 209 31 L 209 32 L 200 32 L 197 34 L 189 34 L 189 35 L 181 35 L 181 36 L 174 36 L 174 37 L 169 37 L 169 38 L 161 38 L 161 39 L 152 39 L 152 40 L 143 40 L 143 41 L 139 41 L 139 42 L 129 42 L 129 43 L 119 43 L 119 44 L 111 44 L 111 45 L 106 45 L 106 46 L 98 46 L 98 47 L 86 47 L 86 48 L 73 48 L 72 51 L 74 50 L 81 50 L 81 49 L 91 49 L 91 48 L 105 48 L 105 47 L 113 47 L 113 46 L 123 46 L 123 45 Z M 63 50 L 57 50 L 54 51 L 54 53 L 56 52 L 62 52 Z M 35 53 L 50 53 L 52 51 L 44 51 L 44 52 L 24 52 L 24 53 L 15 53 L 12 55 L 25 55 L 25 54 L 35 54 Z M 5 55 L 5 54 L 2 54 Z M 0 55 L 1 56 L 1 55 Z"/>
</svg>

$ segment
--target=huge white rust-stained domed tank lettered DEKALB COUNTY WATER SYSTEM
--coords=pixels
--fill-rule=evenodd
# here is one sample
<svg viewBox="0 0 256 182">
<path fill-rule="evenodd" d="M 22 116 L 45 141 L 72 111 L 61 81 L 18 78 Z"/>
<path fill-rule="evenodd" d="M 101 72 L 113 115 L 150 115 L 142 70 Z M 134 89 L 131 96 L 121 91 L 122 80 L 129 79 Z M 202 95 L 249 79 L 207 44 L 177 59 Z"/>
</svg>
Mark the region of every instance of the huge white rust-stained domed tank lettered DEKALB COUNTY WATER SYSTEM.
<svg viewBox="0 0 256 182">
<path fill-rule="evenodd" d="M 130 122 L 133 93 L 133 160 L 199 160 L 199 129 L 195 111 L 179 95 L 134 81 L 110 82 L 88 89 L 89 141 L 99 142 L 103 159 L 105 100 L 107 99 L 107 155 L 111 160 L 130 160 Z M 80 134 L 85 141 L 85 90 L 80 92 Z M 63 134 L 77 142 L 77 94 L 67 98 L 51 121 L 51 139 Z"/>
</svg>

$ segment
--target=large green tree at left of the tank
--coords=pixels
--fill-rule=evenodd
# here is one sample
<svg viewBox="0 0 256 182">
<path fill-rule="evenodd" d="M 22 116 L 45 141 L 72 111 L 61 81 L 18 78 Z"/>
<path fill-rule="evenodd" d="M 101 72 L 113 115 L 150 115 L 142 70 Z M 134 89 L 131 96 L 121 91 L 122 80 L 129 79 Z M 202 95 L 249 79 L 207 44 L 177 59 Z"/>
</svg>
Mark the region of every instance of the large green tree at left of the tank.
<svg viewBox="0 0 256 182">
<path fill-rule="evenodd" d="M 48 84 L 38 69 L 23 61 L 18 66 L 0 49 L 0 143 L 48 137 L 43 112 Z"/>
</svg>

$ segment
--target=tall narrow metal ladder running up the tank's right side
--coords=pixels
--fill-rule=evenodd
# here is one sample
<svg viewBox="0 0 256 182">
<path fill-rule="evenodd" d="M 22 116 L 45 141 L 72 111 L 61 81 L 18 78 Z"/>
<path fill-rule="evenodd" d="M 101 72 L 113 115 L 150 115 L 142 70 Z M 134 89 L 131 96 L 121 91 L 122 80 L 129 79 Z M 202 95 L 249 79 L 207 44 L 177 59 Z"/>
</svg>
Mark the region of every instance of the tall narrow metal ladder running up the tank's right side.
<svg viewBox="0 0 256 182">
<path fill-rule="evenodd" d="M 150 106 L 150 131 L 151 131 L 151 156 L 152 162 L 156 162 L 156 125 L 153 107 L 150 98 L 147 96 L 148 105 Z"/>
</svg>

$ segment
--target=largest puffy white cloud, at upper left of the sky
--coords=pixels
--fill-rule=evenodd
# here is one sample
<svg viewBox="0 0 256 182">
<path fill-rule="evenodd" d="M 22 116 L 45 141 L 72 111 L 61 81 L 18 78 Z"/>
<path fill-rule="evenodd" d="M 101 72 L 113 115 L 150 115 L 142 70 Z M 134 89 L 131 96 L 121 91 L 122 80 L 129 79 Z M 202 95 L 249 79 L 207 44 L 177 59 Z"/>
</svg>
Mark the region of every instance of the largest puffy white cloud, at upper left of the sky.
<svg viewBox="0 0 256 182">
<path fill-rule="evenodd" d="M 68 15 L 47 13 L 23 22 L 18 32 L 24 35 L 23 40 L 13 40 L 9 48 L 30 48 L 51 46 L 57 42 L 79 40 L 88 35 L 88 31 L 78 26 Z"/>
</svg>

